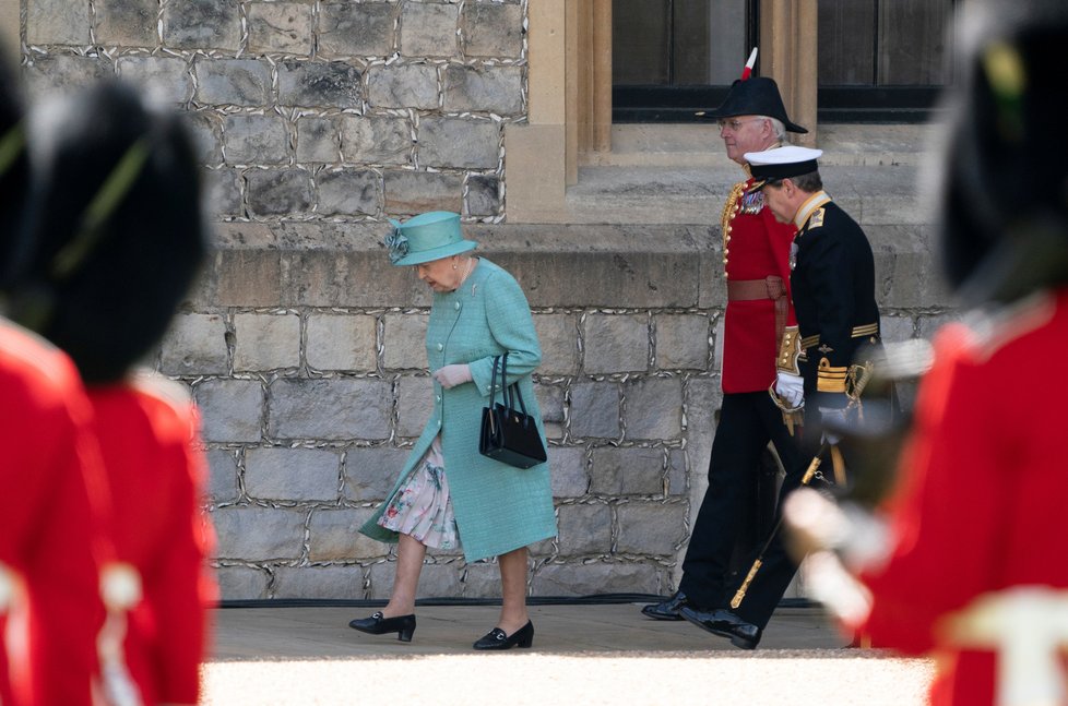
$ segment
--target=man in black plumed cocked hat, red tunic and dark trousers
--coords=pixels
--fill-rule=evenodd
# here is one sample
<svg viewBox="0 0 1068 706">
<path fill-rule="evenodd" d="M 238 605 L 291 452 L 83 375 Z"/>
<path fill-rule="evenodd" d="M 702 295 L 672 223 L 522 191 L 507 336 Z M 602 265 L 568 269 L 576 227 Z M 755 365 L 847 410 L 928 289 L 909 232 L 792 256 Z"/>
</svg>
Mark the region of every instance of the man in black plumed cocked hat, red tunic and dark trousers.
<svg viewBox="0 0 1068 706">
<path fill-rule="evenodd" d="M 746 499 L 768 443 L 774 444 L 783 467 L 790 471 L 783 492 L 796 487 L 803 472 L 795 472 L 802 465 L 797 446 L 782 410 L 768 394 L 776 382 L 776 356 L 783 332 L 796 326 L 790 300 L 788 262 L 795 228 L 776 222 L 764 206 L 762 193 L 750 190 L 753 179 L 744 155 L 781 145 L 787 130 L 807 130 L 790 121 L 779 87 L 767 77 L 736 81 L 723 105 L 705 117 L 719 121 L 727 157 L 746 171 L 746 179 L 731 190 L 721 222 L 727 282 L 723 406 L 712 444 L 709 489 L 693 524 L 678 591 L 642 609 L 643 614 L 657 620 L 681 620 L 679 611 L 684 607 L 726 607 L 731 554 L 738 529 L 751 512 Z M 767 559 L 763 571 L 768 574 L 795 571 L 778 543 Z M 755 598 L 755 602 L 768 605 L 753 609 L 770 615 L 780 598 Z M 740 621 L 738 630 L 738 635 L 732 635 L 735 644 L 756 647 L 759 630 Z"/>
</svg>

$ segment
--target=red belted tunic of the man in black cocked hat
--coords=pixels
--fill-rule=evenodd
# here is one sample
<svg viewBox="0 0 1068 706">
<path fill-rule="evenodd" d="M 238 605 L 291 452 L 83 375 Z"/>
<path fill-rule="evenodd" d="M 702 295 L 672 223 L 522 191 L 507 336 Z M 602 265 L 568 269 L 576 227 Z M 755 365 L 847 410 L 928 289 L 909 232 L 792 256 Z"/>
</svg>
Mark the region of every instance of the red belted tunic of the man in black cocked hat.
<svg viewBox="0 0 1068 706">
<path fill-rule="evenodd" d="M 753 180 L 734 186 L 723 207 L 723 265 L 727 279 L 727 308 L 723 324 L 723 392 L 762 392 L 775 381 L 775 358 L 781 331 L 776 302 L 768 296 L 768 278 L 781 287 L 783 325 L 796 325 L 790 298 L 790 246 L 796 228 L 775 220 L 764 207 L 763 192 L 749 193 Z M 763 282 L 761 287 L 760 283 Z M 738 298 L 740 283 L 756 294 Z M 748 284 L 751 283 L 751 284 Z"/>
</svg>

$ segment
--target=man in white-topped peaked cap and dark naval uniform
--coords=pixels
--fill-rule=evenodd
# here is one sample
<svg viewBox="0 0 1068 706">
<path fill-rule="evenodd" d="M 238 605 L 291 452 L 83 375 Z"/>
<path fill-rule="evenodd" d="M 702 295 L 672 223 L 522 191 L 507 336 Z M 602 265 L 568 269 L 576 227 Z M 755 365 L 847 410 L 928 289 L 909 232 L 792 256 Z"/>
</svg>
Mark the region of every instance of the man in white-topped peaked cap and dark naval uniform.
<svg viewBox="0 0 1068 706">
<path fill-rule="evenodd" d="M 842 423 L 856 408 L 858 350 L 879 340 L 879 309 L 875 301 L 875 259 L 867 237 L 853 218 L 823 191 L 819 149 L 785 146 L 747 153 L 764 203 L 781 223 L 797 228 L 791 249 L 791 294 L 797 327 L 783 336 L 776 390 L 800 387 L 805 407 L 802 441 L 804 465 L 838 443 L 824 426 Z M 759 180 L 763 180 L 760 183 Z M 787 469 L 782 495 L 802 482 L 804 468 Z M 752 649 L 790 585 L 796 564 L 778 539 L 764 551 L 762 566 L 735 593 L 733 608 L 702 610 L 685 607 L 680 614 L 704 630 Z M 739 586 L 740 587 L 740 586 Z"/>
</svg>

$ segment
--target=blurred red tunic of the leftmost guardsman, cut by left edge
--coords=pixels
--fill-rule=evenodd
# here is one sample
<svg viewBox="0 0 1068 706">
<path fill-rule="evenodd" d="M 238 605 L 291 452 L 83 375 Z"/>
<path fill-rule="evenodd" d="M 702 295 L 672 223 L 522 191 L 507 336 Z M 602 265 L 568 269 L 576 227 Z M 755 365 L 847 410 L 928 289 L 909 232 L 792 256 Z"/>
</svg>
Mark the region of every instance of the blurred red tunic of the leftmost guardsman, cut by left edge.
<svg viewBox="0 0 1068 706">
<path fill-rule="evenodd" d="M 88 705 L 108 557 L 99 456 L 70 360 L 0 320 L 0 702 Z M 0 587 L 0 594 L 4 593 Z"/>
</svg>

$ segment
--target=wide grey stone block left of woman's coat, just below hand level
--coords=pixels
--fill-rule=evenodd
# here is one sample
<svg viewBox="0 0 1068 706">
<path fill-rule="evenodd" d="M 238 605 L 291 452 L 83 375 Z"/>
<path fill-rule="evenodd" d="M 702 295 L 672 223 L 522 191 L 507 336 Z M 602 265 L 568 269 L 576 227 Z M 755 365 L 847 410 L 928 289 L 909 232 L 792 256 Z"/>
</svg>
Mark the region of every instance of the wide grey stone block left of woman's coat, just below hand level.
<svg viewBox="0 0 1068 706">
<path fill-rule="evenodd" d="M 271 383 L 276 439 L 388 439 L 393 396 L 379 380 L 281 379 Z"/>
</svg>

